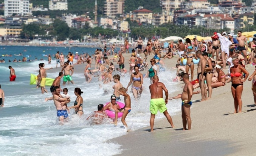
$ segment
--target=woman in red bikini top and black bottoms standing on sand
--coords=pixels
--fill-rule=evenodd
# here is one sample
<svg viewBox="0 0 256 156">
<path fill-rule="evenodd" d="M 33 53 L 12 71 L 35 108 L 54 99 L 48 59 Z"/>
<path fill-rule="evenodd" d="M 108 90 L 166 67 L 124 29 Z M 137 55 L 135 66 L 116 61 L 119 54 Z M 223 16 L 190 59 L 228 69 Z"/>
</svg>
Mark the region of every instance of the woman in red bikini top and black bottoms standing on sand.
<svg viewBox="0 0 256 156">
<path fill-rule="evenodd" d="M 243 91 L 243 83 L 249 76 L 249 73 L 245 68 L 239 64 L 238 58 L 233 58 L 233 67 L 230 68 L 230 76 L 231 76 L 231 91 L 234 98 L 234 113 L 242 112 L 242 91 Z M 243 78 L 242 73 L 245 73 L 245 77 Z"/>
</svg>

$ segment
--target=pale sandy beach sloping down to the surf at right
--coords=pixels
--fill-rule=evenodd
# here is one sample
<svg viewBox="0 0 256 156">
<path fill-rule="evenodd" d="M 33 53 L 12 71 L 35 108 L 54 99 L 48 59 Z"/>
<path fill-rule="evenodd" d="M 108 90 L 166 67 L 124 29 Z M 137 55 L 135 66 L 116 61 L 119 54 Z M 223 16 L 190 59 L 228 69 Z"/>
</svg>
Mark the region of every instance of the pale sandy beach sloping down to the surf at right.
<svg viewBox="0 0 256 156">
<path fill-rule="evenodd" d="M 131 54 L 124 54 L 125 68 L 129 72 L 127 60 Z M 149 56 L 149 61 L 153 55 Z M 111 56 L 109 58 L 112 58 Z M 177 58 L 164 60 L 168 68 L 175 67 Z M 75 72 L 83 73 L 87 64 L 75 65 Z M 94 61 L 92 67 L 94 68 Z M 118 65 L 114 63 L 117 68 Z M 106 66 L 108 67 L 108 66 Z M 195 65 L 197 68 L 197 65 Z M 254 66 L 247 65 L 246 69 L 250 75 L 254 71 Z M 49 73 L 60 71 L 48 70 Z M 176 69 L 173 69 L 176 72 Z M 223 70 L 227 73 L 227 69 Z M 146 71 L 142 72 L 143 74 Z M 196 76 L 194 70 L 194 77 Z M 161 82 L 161 77 L 160 77 Z M 169 94 L 174 97 L 181 94 L 184 83 L 179 82 L 180 91 Z M 148 87 L 148 86 L 146 86 Z M 167 88 L 171 90 L 171 88 Z M 199 91 L 200 88 L 194 91 Z M 143 95 L 142 95 L 143 96 Z M 234 100 L 231 94 L 231 83 L 213 89 L 212 98 L 200 102 L 201 94 L 192 97 L 193 105 L 191 108 L 192 127 L 191 130 L 183 131 L 181 112 L 171 114 L 175 127 L 171 128 L 166 118 L 155 120 L 154 132 L 149 132 L 148 126 L 139 130 L 127 132 L 126 135 L 114 138 L 108 142 L 121 144 L 124 156 L 144 156 L 144 155 L 172 155 L 180 156 L 189 154 L 191 156 L 251 156 L 256 152 L 254 148 L 254 107 L 251 82 L 244 83 L 242 93 L 242 113 L 233 114 Z M 182 102 L 181 99 L 176 101 Z M 148 101 L 149 103 L 149 101 Z M 167 105 L 172 105 L 169 100 Z M 158 115 L 160 113 L 158 112 Z M 129 118 L 129 115 L 127 116 Z M 148 117 L 148 121 L 150 116 Z M 118 121 L 121 122 L 121 121 Z M 129 125 L 128 125 L 129 126 Z"/>
</svg>

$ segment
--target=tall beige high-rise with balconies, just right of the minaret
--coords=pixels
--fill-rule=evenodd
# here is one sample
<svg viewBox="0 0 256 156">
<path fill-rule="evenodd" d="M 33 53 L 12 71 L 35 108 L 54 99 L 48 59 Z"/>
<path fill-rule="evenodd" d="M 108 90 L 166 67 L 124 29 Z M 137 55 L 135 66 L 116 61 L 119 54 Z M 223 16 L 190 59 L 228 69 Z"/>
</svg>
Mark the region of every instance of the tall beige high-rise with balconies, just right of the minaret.
<svg viewBox="0 0 256 156">
<path fill-rule="evenodd" d="M 124 13 L 124 0 L 106 0 L 104 4 L 104 15 L 115 18 Z"/>
</svg>

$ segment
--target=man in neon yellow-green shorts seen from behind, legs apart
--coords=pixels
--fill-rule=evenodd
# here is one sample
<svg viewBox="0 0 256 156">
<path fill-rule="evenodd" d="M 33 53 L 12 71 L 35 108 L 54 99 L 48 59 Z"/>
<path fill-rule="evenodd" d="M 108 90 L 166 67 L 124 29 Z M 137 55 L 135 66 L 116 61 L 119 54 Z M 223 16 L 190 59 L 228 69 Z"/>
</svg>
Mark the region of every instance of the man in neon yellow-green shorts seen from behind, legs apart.
<svg viewBox="0 0 256 156">
<path fill-rule="evenodd" d="M 168 90 L 166 89 L 165 85 L 162 82 L 158 82 L 158 76 L 153 76 L 152 78 L 153 84 L 149 86 L 151 100 L 150 100 L 150 107 L 149 110 L 151 112 L 150 116 L 150 132 L 153 132 L 154 128 L 154 120 L 155 115 L 157 114 L 158 110 L 164 114 L 167 118 L 168 122 L 171 124 L 172 128 L 174 124 L 172 123 L 172 118 L 169 115 L 166 104 L 168 103 Z M 165 93 L 165 100 L 163 99 L 163 90 Z"/>
</svg>

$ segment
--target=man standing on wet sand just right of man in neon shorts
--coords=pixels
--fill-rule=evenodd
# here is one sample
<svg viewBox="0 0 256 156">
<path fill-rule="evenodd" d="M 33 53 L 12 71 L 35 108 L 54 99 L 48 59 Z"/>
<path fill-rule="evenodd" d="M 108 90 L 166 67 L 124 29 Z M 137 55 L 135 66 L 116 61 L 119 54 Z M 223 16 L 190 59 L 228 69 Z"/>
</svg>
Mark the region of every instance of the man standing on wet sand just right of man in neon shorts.
<svg viewBox="0 0 256 156">
<path fill-rule="evenodd" d="M 185 73 L 182 77 L 185 86 L 182 92 L 182 123 L 183 130 L 186 130 L 188 123 L 188 130 L 191 129 L 190 107 L 192 105 L 193 85 L 189 82 L 188 73 Z"/>
</svg>

